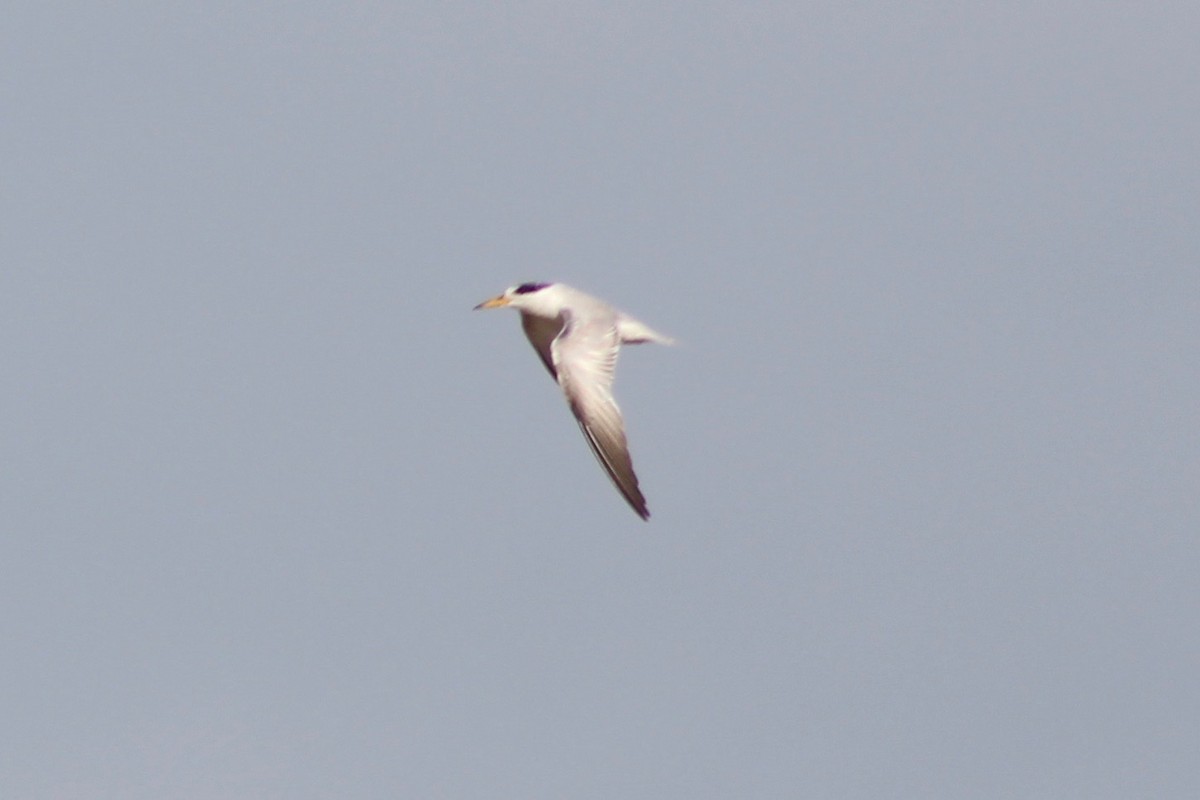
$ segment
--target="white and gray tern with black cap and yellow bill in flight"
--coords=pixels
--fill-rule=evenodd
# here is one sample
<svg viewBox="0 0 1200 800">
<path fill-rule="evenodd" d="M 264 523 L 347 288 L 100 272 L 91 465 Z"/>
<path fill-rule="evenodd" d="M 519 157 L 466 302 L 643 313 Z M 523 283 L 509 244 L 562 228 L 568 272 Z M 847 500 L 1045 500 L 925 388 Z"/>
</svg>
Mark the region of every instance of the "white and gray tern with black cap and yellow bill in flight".
<svg viewBox="0 0 1200 800">
<path fill-rule="evenodd" d="M 600 467 L 642 519 L 650 518 L 625 440 L 625 423 L 612 396 L 622 344 L 674 339 L 564 283 L 521 283 L 475 306 L 516 308 L 538 357 L 566 396 L 580 431 Z"/>
</svg>

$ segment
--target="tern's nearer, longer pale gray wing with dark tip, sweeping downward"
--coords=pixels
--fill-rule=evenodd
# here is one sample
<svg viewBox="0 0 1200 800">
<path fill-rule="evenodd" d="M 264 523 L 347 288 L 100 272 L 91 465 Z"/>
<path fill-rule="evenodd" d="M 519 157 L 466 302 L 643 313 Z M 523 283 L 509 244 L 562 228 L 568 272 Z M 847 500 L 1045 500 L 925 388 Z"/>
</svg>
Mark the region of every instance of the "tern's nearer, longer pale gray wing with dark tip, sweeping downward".
<svg viewBox="0 0 1200 800">
<path fill-rule="evenodd" d="M 611 319 L 587 323 L 566 314 L 564 317 L 562 331 L 550 342 L 546 366 L 566 393 L 571 413 L 596 461 L 637 516 L 648 519 L 650 511 L 637 488 L 637 475 L 625 441 L 625 425 L 612 397 L 617 350 L 620 348 L 617 326 Z M 530 342 L 534 341 L 528 326 L 526 335 Z M 536 342 L 534 349 L 541 355 Z M 542 361 L 546 361 L 544 355 Z"/>
</svg>

